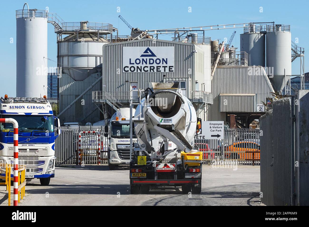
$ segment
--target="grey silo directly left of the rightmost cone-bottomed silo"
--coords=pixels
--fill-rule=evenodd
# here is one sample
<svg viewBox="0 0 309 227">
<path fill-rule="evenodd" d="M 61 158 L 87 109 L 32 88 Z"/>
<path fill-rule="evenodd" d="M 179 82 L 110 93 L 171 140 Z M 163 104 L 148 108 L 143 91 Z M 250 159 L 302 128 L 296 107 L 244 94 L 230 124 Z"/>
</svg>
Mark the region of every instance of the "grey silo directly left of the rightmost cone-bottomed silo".
<svg viewBox="0 0 309 227">
<path fill-rule="evenodd" d="M 265 34 L 260 26 L 249 24 L 240 34 L 240 51 L 248 54 L 248 65 L 265 67 Z"/>
</svg>

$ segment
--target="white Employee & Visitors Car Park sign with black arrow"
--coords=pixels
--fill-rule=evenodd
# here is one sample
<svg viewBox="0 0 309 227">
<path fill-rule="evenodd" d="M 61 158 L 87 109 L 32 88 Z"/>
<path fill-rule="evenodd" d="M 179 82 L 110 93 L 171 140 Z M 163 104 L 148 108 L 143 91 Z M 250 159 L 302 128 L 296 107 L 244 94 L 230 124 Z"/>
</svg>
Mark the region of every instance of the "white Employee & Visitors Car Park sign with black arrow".
<svg viewBox="0 0 309 227">
<path fill-rule="evenodd" d="M 202 121 L 201 134 L 196 139 L 224 139 L 224 121 Z"/>
</svg>

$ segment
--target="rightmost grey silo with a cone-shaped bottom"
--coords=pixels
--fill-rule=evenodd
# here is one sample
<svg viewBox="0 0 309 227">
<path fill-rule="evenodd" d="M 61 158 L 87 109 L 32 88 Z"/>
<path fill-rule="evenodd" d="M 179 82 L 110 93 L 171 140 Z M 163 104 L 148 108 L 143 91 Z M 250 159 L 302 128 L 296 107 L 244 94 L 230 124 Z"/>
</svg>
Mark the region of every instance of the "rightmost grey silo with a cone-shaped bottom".
<svg viewBox="0 0 309 227">
<path fill-rule="evenodd" d="M 274 89 L 282 91 L 292 74 L 290 25 L 267 26 L 266 66 Z"/>
</svg>

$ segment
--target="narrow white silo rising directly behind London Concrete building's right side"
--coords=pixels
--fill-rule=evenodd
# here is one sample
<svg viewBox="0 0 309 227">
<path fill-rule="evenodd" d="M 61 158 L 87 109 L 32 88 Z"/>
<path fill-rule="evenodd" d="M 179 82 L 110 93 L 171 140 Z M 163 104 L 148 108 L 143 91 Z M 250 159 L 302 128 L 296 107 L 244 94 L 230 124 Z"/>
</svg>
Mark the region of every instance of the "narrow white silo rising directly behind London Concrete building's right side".
<svg viewBox="0 0 309 227">
<path fill-rule="evenodd" d="M 211 45 L 210 37 L 204 37 L 204 41 L 197 46 L 204 50 L 204 85 L 205 91 L 211 93 Z"/>
</svg>

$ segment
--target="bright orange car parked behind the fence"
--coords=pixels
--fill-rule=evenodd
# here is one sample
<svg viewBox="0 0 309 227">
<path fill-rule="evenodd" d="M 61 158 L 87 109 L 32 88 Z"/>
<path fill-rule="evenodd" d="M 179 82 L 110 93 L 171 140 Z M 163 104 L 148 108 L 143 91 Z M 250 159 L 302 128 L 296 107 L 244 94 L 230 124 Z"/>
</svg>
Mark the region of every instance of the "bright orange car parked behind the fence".
<svg viewBox="0 0 309 227">
<path fill-rule="evenodd" d="M 235 151 L 238 152 L 236 153 Z M 260 140 L 235 141 L 226 147 L 226 152 L 226 158 L 244 159 L 245 161 L 255 159 L 256 161 L 260 161 Z"/>
</svg>

